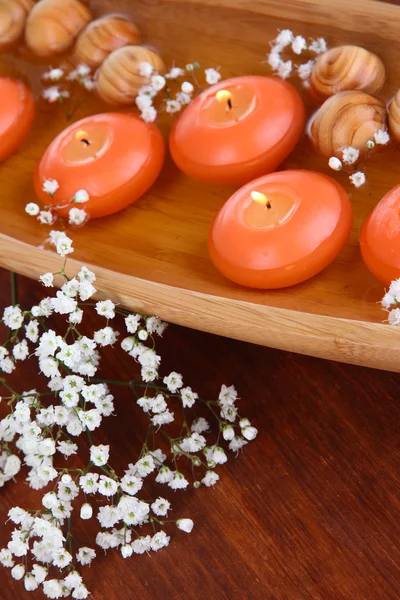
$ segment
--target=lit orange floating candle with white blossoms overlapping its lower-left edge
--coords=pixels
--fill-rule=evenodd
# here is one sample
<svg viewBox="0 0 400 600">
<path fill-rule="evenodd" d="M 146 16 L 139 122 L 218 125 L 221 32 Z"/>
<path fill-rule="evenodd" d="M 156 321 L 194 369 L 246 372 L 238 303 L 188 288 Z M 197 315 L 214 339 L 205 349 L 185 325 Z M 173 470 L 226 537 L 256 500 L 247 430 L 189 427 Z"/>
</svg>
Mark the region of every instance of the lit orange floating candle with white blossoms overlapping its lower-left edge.
<svg viewBox="0 0 400 600">
<path fill-rule="evenodd" d="M 53 207 L 66 217 L 76 192 L 86 190 L 88 217 L 104 217 L 148 190 L 159 175 L 164 153 L 156 125 L 133 114 L 93 115 L 65 129 L 47 148 L 35 172 L 36 193 L 48 205 L 43 184 L 56 180 Z"/>
</svg>

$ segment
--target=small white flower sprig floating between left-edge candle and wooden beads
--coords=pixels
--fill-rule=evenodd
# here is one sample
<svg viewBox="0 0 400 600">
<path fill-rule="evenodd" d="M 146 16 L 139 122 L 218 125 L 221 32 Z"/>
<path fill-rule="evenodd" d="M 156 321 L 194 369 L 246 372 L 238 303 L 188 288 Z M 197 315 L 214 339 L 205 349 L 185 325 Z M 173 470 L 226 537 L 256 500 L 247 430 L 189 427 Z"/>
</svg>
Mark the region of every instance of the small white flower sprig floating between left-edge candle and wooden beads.
<svg viewBox="0 0 400 600">
<path fill-rule="evenodd" d="M 95 87 L 91 68 L 84 64 L 78 65 L 74 70 L 69 72 L 67 66 L 50 67 L 42 75 L 42 79 L 46 84 L 50 84 L 50 87 L 45 88 L 42 92 L 42 97 L 50 104 L 64 102 L 67 98 L 71 98 L 71 85 L 74 82 L 79 83 L 88 92 L 91 92 Z M 60 85 L 61 82 L 64 82 L 64 86 Z"/>
</svg>

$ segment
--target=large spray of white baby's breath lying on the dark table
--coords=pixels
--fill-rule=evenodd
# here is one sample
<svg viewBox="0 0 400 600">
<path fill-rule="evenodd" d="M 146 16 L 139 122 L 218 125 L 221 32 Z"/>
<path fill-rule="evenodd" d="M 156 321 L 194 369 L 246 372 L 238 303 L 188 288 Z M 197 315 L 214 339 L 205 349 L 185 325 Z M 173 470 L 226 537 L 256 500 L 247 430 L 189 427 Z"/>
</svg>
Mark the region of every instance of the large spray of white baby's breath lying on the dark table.
<svg viewBox="0 0 400 600">
<path fill-rule="evenodd" d="M 51 231 L 50 239 L 61 257 L 73 251 L 65 233 Z M 237 453 L 256 437 L 257 429 L 240 418 L 233 386 L 223 385 L 217 399 L 203 400 L 184 385 L 180 373 L 160 378 L 155 337 L 163 334 L 166 324 L 159 318 L 126 314 L 111 300 L 100 300 L 90 305 L 105 319 L 105 326 L 92 335 L 83 333 L 84 303 L 96 292 L 96 277 L 86 267 L 72 278 L 64 269 L 60 272 L 64 283 L 54 295 L 30 310 L 8 306 L 3 312 L 9 335 L 0 346 L 0 386 L 9 394 L 3 399 L 11 411 L 0 421 L 0 486 L 24 462 L 30 487 L 43 489 L 44 495 L 40 509 L 10 509 L 8 517 L 15 528 L 0 550 L 0 563 L 11 570 L 14 579 L 23 580 L 27 591 L 41 587 L 48 598 L 84 599 L 90 592 L 80 566 L 89 565 L 96 550 L 80 546 L 72 532 L 77 507 L 81 519 L 96 518 L 100 530 L 95 544 L 104 551 L 118 549 L 123 558 L 157 552 L 170 541 L 165 529 L 171 522 L 172 506 L 164 494 L 154 500 L 146 494 L 146 500 L 142 499 L 147 481 L 154 478 L 165 490 L 185 489 L 190 479 L 195 488 L 213 486 L 219 480 L 216 467 L 228 460 L 223 444 L 227 442 L 229 450 Z M 53 273 L 43 274 L 40 280 L 53 291 Z M 64 335 L 46 324 L 53 313 L 65 315 Z M 118 340 L 118 320 L 128 334 L 121 346 L 135 361 L 140 376 L 127 382 L 94 379 L 102 348 Z M 17 392 L 5 382 L 5 375 L 28 357 L 37 361 L 44 377 L 43 391 Z M 136 460 L 120 475 L 110 464 L 109 445 L 93 439 L 103 419 L 115 412 L 110 392 L 114 384 L 131 390 L 148 420 Z M 196 415 L 204 412 L 208 419 L 189 418 L 195 405 Z M 167 426 L 177 422 L 179 415 L 175 431 L 180 428 L 181 433 L 172 437 Z M 211 421 L 217 425 L 215 437 Z M 169 442 L 168 453 L 158 447 L 160 430 Z M 75 467 L 76 463 L 66 461 L 78 453 L 80 435 L 87 436 L 90 453 L 81 455 L 85 466 Z M 173 521 L 186 533 L 193 529 L 191 519 Z"/>
</svg>

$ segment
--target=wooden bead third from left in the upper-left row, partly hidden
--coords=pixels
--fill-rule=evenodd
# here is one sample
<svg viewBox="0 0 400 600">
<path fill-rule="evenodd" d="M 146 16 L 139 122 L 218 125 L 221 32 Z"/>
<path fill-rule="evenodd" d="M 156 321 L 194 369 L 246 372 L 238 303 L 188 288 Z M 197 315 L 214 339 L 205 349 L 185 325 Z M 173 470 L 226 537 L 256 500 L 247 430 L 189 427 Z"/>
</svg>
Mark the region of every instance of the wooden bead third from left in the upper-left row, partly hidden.
<svg viewBox="0 0 400 600">
<path fill-rule="evenodd" d="M 138 28 L 119 15 L 106 15 L 90 23 L 79 35 L 74 58 L 92 68 L 99 67 L 111 52 L 140 41 Z"/>
</svg>

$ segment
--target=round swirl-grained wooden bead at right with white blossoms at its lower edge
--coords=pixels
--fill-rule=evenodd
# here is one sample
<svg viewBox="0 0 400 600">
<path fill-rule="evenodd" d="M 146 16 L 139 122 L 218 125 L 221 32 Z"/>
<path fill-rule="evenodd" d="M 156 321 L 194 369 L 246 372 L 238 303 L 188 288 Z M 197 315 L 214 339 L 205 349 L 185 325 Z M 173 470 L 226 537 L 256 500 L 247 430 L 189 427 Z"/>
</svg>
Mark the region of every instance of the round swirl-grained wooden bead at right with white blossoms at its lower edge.
<svg viewBox="0 0 400 600">
<path fill-rule="evenodd" d="M 367 141 L 386 127 L 383 102 L 364 92 L 341 92 L 325 100 L 316 113 L 311 137 L 324 156 L 340 156 L 346 146 L 366 152 Z"/>
</svg>

